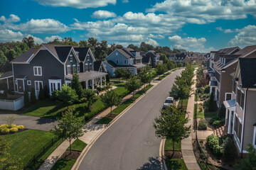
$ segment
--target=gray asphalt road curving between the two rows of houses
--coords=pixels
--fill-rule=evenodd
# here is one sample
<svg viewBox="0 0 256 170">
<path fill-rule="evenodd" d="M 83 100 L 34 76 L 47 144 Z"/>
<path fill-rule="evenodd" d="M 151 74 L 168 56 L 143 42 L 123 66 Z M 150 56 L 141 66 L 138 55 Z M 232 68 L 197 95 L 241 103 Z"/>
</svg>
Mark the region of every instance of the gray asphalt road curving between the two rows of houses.
<svg viewBox="0 0 256 170">
<path fill-rule="evenodd" d="M 161 169 L 161 139 L 155 136 L 153 122 L 180 73 L 170 74 L 112 124 L 87 152 L 79 169 Z"/>
</svg>

